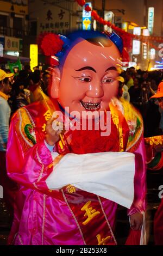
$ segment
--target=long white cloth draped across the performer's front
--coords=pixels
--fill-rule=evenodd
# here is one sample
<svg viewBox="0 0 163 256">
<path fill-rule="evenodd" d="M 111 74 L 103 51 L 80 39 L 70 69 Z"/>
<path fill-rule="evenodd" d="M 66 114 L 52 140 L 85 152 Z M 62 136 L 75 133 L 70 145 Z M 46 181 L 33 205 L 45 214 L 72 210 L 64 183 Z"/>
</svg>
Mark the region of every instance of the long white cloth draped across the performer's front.
<svg viewBox="0 0 163 256">
<path fill-rule="evenodd" d="M 53 159 L 58 153 L 51 153 Z M 48 176 L 49 190 L 69 184 L 128 209 L 134 200 L 135 155 L 127 152 L 67 154 Z"/>
</svg>

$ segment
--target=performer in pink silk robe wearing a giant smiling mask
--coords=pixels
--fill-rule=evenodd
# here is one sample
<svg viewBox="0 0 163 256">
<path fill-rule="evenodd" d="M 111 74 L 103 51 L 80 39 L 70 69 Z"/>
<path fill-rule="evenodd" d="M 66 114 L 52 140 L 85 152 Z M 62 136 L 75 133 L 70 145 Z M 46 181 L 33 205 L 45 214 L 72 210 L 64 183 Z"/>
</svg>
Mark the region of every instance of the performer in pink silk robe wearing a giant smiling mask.
<svg viewBox="0 0 163 256">
<path fill-rule="evenodd" d="M 15 245 L 116 245 L 117 203 L 129 209 L 131 228 L 141 230 L 146 194 L 142 118 L 115 98 L 122 41 L 115 33 L 99 32 L 74 32 L 57 40 L 64 43 L 55 52 L 55 100 L 21 108 L 11 121 L 8 175 L 21 185 L 24 199 L 21 213 L 15 212 L 10 243 L 14 237 Z M 72 129 L 74 118 L 65 107 L 81 117 L 104 112 L 105 120 L 110 111 L 110 134 Z M 70 130 L 62 133 L 51 118 L 54 111 L 61 111 Z M 138 243 L 145 243 L 143 238 Z"/>
</svg>

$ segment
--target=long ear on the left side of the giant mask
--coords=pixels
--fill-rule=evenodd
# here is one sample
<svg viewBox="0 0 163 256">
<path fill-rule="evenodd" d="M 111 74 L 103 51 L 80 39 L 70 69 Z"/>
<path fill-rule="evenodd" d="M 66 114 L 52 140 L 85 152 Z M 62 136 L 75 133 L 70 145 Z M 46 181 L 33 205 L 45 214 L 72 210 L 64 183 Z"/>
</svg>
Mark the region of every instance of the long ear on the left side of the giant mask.
<svg viewBox="0 0 163 256">
<path fill-rule="evenodd" d="M 52 86 L 49 92 L 49 94 L 53 99 L 58 98 L 59 84 L 60 84 L 60 70 L 59 68 L 54 68 L 52 73 Z"/>
</svg>

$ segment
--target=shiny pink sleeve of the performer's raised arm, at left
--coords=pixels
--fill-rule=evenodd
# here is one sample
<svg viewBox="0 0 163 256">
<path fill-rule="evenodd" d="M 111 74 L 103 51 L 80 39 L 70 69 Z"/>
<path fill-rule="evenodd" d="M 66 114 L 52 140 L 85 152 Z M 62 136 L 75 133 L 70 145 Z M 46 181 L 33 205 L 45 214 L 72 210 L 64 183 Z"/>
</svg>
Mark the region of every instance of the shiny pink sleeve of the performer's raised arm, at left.
<svg viewBox="0 0 163 256">
<path fill-rule="evenodd" d="M 46 178 L 52 172 L 51 152 L 44 140 L 29 143 L 21 130 L 18 113 L 11 120 L 7 148 L 7 172 L 11 179 L 23 186 L 47 191 Z"/>
</svg>

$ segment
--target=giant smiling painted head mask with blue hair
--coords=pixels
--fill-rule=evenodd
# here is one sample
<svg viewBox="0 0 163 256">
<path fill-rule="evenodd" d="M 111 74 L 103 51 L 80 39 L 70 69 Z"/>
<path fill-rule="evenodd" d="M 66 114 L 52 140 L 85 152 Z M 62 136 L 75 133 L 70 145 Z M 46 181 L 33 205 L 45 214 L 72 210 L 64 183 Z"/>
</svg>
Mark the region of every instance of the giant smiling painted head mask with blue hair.
<svg viewBox="0 0 163 256">
<path fill-rule="evenodd" d="M 105 111 L 118 92 L 120 49 L 99 32 L 76 32 L 70 38 L 71 46 L 53 71 L 51 96 L 70 112 Z"/>
</svg>

